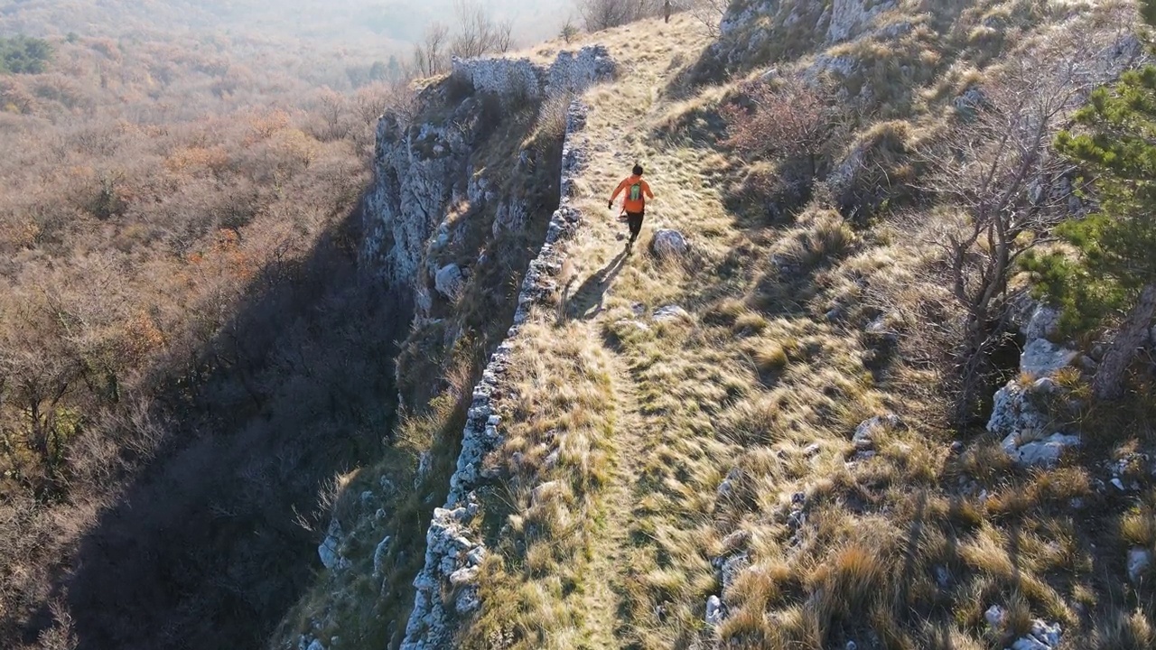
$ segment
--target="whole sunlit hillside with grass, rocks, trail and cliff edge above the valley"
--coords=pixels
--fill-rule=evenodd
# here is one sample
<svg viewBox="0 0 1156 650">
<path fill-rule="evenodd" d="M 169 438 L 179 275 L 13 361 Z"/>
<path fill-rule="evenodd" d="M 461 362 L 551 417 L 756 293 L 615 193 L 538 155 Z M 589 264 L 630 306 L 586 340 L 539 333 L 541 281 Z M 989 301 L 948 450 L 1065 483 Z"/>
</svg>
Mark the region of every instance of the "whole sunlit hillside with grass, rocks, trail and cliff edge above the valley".
<svg viewBox="0 0 1156 650">
<path fill-rule="evenodd" d="M 1149 375 L 1087 399 L 1098 334 L 1065 339 L 988 264 L 1088 209 L 1051 139 L 1142 59 L 1134 14 L 735 2 L 718 36 L 680 14 L 528 53 L 598 45 L 617 72 L 572 97 L 514 326 L 413 405 L 408 463 L 348 477 L 329 568 L 274 645 L 1150 648 Z M 431 80 L 403 140 L 524 69 L 487 65 Z M 379 157 L 376 186 L 421 204 L 438 170 L 490 171 L 481 148 L 465 177 L 435 167 L 439 147 L 413 176 Z M 635 162 L 657 198 L 631 250 L 605 205 Z M 991 213 L 1016 215 L 1006 242 Z M 406 237 L 409 214 L 378 219 Z M 468 209 L 440 214 L 402 248 L 432 256 L 432 320 L 399 377 L 461 340 L 430 286 L 445 242 L 477 249 Z"/>
</svg>

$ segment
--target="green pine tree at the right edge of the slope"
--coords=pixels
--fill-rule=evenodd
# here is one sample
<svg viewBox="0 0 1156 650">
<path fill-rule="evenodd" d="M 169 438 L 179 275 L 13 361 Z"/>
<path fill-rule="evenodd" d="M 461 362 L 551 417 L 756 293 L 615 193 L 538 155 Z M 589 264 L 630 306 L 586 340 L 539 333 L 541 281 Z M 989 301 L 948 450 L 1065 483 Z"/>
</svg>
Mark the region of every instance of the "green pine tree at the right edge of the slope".
<svg viewBox="0 0 1156 650">
<path fill-rule="evenodd" d="M 1144 2 L 1156 17 L 1156 0 Z M 1075 254 L 1053 252 L 1027 261 L 1040 289 L 1065 308 L 1064 325 L 1090 328 L 1125 313 L 1094 390 L 1111 399 L 1156 315 L 1156 66 L 1129 71 L 1097 89 L 1062 132 L 1057 149 L 1094 182 L 1098 208 L 1057 229 Z"/>
</svg>

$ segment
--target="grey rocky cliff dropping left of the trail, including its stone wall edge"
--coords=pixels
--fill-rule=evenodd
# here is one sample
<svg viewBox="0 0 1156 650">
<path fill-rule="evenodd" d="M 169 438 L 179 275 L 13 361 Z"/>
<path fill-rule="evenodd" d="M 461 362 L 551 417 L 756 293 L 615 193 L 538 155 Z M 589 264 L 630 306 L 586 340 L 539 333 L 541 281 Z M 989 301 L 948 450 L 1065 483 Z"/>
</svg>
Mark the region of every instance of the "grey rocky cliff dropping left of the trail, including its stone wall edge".
<svg viewBox="0 0 1156 650">
<path fill-rule="evenodd" d="M 379 627 L 403 648 L 444 648 L 455 616 L 476 607 L 470 581 L 486 548 L 469 517 L 476 510 L 473 489 L 487 480 L 479 473 L 481 459 L 501 440 L 489 400 L 510 352 L 502 341 L 517 332 L 529 305 L 554 290 L 563 241 L 578 222 L 565 204 L 583 160 L 585 113 L 572 97 L 615 72 L 599 46 L 561 52 L 550 65 L 454 60 L 452 72 L 423 88 L 407 110 L 381 117 L 361 253 L 363 265 L 383 283 L 405 288 L 415 308 L 403 344 L 408 354 L 398 362 L 399 402 L 413 413 L 437 411 L 427 400 L 445 394 L 449 364 L 492 356 L 477 367 L 480 381 L 466 394 L 460 438 L 429 433 L 415 467 L 387 459 L 348 488 L 358 495 L 355 503 L 335 509 L 318 547 L 328 570 L 325 586 L 303 606 L 297 635 L 284 635 L 287 647 L 335 648 L 351 627 L 362 634 Z M 512 281 L 519 285 L 507 291 Z M 503 323 L 513 326 L 506 331 Z M 475 374 L 468 361 L 465 368 Z M 447 426 L 453 421 L 447 416 Z M 438 467 L 447 458 L 452 464 Z M 418 539 L 412 517 L 430 511 Z M 416 578 L 399 568 L 412 564 L 415 553 L 424 556 Z M 408 593 L 390 591 L 398 581 Z M 398 618 L 366 625 L 365 616 L 381 615 L 351 590 L 366 582 L 378 585 L 377 598 L 388 601 L 392 615 L 413 605 L 408 623 Z M 446 604 L 442 594 L 449 591 L 455 597 Z M 350 615 L 361 620 L 351 626 Z"/>
</svg>

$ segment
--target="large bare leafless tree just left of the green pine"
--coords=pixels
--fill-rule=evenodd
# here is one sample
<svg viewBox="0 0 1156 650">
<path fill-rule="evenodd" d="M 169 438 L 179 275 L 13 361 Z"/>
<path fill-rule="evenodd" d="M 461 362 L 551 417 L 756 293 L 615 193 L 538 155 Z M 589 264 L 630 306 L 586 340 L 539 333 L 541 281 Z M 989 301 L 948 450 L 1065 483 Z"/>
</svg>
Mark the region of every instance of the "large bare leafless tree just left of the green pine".
<svg viewBox="0 0 1156 650">
<path fill-rule="evenodd" d="M 1096 84 L 1099 51 L 1053 40 L 1017 57 L 961 102 L 961 116 L 925 150 L 926 190 L 959 208 L 934 242 L 965 317 L 956 350 L 955 418 L 968 419 L 1009 317 L 1017 260 L 1066 214 L 1072 167 L 1052 150 L 1070 112 Z"/>
</svg>

